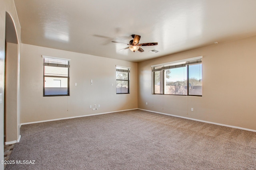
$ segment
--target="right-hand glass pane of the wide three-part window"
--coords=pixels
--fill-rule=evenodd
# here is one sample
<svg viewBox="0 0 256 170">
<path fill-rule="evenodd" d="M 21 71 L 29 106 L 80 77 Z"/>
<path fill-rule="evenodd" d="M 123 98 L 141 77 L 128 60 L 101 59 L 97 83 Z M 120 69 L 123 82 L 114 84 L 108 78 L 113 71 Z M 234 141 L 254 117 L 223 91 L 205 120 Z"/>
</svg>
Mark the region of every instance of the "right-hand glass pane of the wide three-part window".
<svg viewBox="0 0 256 170">
<path fill-rule="evenodd" d="M 189 95 L 202 95 L 202 64 L 189 65 Z"/>
</svg>

